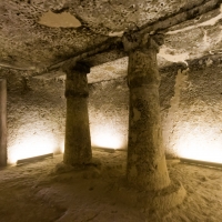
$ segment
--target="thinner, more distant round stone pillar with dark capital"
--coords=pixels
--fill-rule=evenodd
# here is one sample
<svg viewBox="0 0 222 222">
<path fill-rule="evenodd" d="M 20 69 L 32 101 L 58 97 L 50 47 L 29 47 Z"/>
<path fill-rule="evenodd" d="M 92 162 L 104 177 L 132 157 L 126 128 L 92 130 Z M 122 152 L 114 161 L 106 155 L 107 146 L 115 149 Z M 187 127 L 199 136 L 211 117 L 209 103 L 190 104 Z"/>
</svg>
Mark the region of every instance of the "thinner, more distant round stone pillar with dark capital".
<svg viewBox="0 0 222 222">
<path fill-rule="evenodd" d="M 83 165 L 91 162 L 91 139 L 88 114 L 88 81 L 90 68 L 75 63 L 64 68 L 67 73 L 67 122 L 63 162 L 71 165 Z"/>
</svg>

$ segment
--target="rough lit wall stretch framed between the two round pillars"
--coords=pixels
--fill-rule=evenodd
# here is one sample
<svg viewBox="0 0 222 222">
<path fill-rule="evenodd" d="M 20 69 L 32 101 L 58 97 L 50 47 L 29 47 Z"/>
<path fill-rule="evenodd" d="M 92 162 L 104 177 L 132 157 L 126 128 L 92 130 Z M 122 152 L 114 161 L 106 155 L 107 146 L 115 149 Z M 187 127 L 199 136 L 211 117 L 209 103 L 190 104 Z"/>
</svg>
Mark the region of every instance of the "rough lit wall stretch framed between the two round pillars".
<svg viewBox="0 0 222 222">
<path fill-rule="evenodd" d="M 93 147 L 125 149 L 129 90 L 125 78 L 89 85 L 89 117 Z"/>
</svg>

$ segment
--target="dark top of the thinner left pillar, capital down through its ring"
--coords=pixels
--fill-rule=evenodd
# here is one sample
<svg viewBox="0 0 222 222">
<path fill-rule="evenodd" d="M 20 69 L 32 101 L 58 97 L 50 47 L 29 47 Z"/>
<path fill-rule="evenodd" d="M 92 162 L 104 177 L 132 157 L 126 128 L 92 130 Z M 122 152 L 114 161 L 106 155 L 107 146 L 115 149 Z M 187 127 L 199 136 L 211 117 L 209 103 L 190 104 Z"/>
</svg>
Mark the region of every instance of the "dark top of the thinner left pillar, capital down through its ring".
<svg viewBox="0 0 222 222">
<path fill-rule="evenodd" d="M 87 74 L 90 65 L 84 62 L 65 63 L 63 71 L 67 73 L 65 97 L 88 97 Z"/>
</svg>

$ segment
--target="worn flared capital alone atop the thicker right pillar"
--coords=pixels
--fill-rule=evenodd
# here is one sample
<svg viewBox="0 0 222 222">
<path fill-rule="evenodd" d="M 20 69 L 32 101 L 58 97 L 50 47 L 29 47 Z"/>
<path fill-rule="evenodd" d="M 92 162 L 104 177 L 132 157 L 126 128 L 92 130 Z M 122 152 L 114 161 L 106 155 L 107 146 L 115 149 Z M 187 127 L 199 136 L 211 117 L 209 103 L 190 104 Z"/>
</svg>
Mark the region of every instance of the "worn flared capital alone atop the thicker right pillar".
<svg viewBox="0 0 222 222">
<path fill-rule="evenodd" d="M 158 53 L 160 46 L 164 42 L 164 36 L 162 33 L 127 33 L 123 36 L 122 42 L 127 52 L 142 51 L 145 53 L 154 50 Z"/>
</svg>

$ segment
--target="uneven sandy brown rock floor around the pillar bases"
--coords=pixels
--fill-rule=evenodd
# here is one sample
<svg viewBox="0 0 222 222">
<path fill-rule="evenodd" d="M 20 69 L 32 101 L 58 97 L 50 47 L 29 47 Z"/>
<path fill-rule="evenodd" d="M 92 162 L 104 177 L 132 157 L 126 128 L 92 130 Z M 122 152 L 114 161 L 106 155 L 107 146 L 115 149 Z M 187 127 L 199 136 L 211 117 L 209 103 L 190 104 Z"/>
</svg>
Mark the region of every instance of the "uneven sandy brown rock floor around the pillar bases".
<svg viewBox="0 0 222 222">
<path fill-rule="evenodd" d="M 62 155 L 0 169 L 1 222 L 220 222 L 222 170 L 168 161 L 170 176 L 186 190 L 168 212 L 137 209 L 121 200 L 127 152 L 94 150 L 101 165 L 64 168 Z M 129 190 L 128 190 L 129 192 Z"/>
</svg>

